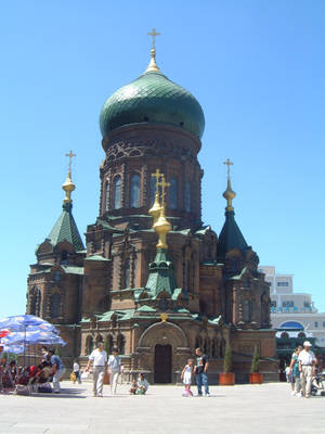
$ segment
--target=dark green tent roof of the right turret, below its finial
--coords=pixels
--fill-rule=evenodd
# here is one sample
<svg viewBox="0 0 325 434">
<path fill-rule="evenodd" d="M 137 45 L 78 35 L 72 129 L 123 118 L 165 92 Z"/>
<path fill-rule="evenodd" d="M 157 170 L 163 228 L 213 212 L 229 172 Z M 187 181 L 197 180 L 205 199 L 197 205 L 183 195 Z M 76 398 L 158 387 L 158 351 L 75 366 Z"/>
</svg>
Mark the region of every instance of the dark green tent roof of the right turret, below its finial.
<svg viewBox="0 0 325 434">
<path fill-rule="evenodd" d="M 218 256 L 225 256 L 233 248 L 245 252 L 249 248 L 238 225 L 235 221 L 235 213 L 233 210 L 225 212 L 225 221 L 219 235 Z"/>
</svg>

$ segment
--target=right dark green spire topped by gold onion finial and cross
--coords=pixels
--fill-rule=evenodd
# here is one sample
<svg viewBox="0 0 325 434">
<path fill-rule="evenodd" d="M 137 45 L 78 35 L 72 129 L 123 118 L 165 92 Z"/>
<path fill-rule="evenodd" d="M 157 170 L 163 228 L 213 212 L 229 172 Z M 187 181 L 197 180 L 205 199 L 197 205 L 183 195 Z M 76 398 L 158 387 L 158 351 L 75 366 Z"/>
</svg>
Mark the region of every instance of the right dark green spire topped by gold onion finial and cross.
<svg viewBox="0 0 325 434">
<path fill-rule="evenodd" d="M 227 158 L 223 164 L 227 166 L 226 190 L 223 193 L 223 197 L 226 200 L 226 207 L 225 221 L 218 240 L 218 256 L 224 256 L 227 252 L 235 247 L 242 252 L 249 248 L 235 220 L 233 199 L 236 196 L 236 193 L 232 190 L 230 177 L 230 166 L 232 166 L 234 163 Z"/>
</svg>

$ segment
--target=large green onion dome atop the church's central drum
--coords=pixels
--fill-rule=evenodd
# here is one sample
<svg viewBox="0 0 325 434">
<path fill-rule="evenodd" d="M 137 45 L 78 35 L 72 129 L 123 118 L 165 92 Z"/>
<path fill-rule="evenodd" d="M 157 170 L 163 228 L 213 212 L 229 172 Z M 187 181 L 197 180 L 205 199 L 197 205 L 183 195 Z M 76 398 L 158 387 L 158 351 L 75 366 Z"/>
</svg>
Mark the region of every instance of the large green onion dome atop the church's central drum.
<svg viewBox="0 0 325 434">
<path fill-rule="evenodd" d="M 170 124 L 202 137 L 205 116 L 198 101 L 156 69 L 147 71 L 108 98 L 100 117 L 103 137 L 115 128 L 139 123 Z"/>
</svg>

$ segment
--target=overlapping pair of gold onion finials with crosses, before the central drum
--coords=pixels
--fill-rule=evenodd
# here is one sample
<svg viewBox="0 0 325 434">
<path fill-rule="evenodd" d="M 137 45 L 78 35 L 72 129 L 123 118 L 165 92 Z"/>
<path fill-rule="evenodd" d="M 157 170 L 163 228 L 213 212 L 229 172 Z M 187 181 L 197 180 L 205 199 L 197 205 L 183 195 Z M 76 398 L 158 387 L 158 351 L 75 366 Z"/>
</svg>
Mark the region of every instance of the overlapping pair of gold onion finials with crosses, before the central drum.
<svg viewBox="0 0 325 434">
<path fill-rule="evenodd" d="M 153 207 L 150 209 L 150 215 L 154 218 L 153 228 L 159 235 L 157 248 L 167 248 L 166 235 L 171 230 L 171 225 L 165 217 L 165 194 L 166 187 L 170 183 L 166 182 L 164 174 L 160 174 L 159 169 L 152 174 L 152 177 L 156 178 L 156 199 Z M 159 187 L 161 192 L 159 194 Z"/>
</svg>

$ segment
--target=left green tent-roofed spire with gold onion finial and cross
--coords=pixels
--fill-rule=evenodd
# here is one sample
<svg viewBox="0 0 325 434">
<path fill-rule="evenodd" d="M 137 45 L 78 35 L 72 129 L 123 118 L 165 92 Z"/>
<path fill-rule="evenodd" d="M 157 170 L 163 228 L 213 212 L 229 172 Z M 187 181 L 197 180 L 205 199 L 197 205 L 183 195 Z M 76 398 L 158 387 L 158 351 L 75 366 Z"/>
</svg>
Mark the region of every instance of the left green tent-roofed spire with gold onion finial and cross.
<svg viewBox="0 0 325 434">
<path fill-rule="evenodd" d="M 69 157 L 69 167 L 66 181 L 62 184 L 62 190 L 65 191 L 65 197 L 62 205 L 63 210 L 53 226 L 48 239 L 53 247 L 62 241 L 67 241 L 76 248 L 76 251 L 80 251 L 84 247 L 73 216 L 73 200 L 70 197 L 72 192 L 76 189 L 76 186 L 72 181 L 72 158 L 76 156 L 76 154 L 70 151 L 66 156 Z"/>
</svg>

